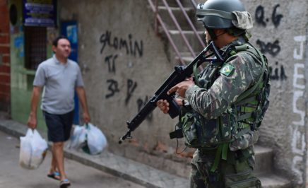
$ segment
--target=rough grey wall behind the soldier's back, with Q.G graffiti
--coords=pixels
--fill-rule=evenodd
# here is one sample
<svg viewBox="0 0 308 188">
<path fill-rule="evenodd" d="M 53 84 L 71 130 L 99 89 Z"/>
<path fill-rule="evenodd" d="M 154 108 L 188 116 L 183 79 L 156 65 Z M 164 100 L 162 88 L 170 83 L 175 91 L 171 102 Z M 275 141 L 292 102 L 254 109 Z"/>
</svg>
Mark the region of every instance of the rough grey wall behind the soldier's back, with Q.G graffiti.
<svg viewBox="0 0 308 188">
<path fill-rule="evenodd" d="M 307 156 L 307 1 L 244 1 L 254 16 L 252 42 L 268 57 L 271 104 L 260 143 L 276 171 L 305 184 Z"/>
</svg>

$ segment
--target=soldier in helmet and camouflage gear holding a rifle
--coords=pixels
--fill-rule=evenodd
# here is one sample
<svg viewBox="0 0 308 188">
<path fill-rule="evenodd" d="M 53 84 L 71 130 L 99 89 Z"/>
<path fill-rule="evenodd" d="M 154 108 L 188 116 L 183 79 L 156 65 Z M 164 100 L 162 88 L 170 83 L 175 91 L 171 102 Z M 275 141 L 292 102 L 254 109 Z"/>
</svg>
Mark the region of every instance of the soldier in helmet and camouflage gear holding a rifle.
<svg viewBox="0 0 308 188">
<path fill-rule="evenodd" d="M 268 107 L 270 81 L 266 57 L 249 42 L 251 15 L 239 0 L 208 0 L 196 15 L 223 62 L 211 62 L 194 81 L 168 91 L 181 106 L 179 123 L 186 146 L 197 148 L 190 187 L 261 187 L 253 174 L 254 143 Z M 162 112 L 169 103 L 159 100 Z"/>
</svg>

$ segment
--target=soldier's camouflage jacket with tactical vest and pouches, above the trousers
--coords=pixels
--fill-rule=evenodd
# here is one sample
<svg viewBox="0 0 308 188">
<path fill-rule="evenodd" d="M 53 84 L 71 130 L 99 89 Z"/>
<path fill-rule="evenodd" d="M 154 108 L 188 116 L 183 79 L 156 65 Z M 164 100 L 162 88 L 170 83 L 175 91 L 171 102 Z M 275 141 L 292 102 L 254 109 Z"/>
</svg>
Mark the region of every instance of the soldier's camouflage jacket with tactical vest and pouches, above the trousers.
<svg viewBox="0 0 308 188">
<path fill-rule="evenodd" d="M 259 106 L 261 100 L 258 98 L 263 96 L 259 92 L 264 93 L 264 84 L 268 86 L 264 82 L 268 78 L 267 61 L 263 59 L 262 67 L 258 52 L 249 54 L 246 49 L 235 52 L 236 47 L 247 45 L 253 49 L 243 41 L 235 40 L 220 49 L 222 54 L 226 54 L 225 62 L 208 64 L 199 75 L 195 75 L 196 84 L 186 90 L 189 105 L 181 108 L 179 116 L 186 146 L 213 148 L 220 143 L 230 143 L 230 150 L 235 151 L 256 143 L 259 136 L 255 125 L 261 123 L 268 107 L 263 105 L 265 111 L 256 111 L 263 107 Z M 269 94 L 269 90 L 266 92 Z M 243 93 L 247 95 L 244 98 Z"/>
</svg>

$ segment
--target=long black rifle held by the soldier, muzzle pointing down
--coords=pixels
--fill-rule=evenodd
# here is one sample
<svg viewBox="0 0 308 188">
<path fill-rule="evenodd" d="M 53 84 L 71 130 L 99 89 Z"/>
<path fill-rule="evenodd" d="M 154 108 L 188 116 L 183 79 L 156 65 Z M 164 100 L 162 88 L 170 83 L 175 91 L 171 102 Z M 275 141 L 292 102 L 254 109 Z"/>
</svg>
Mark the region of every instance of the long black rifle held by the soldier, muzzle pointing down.
<svg viewBox="0 0 308 188">
<path fill-rule="evenodd" d="M 206 53 L 211 51 L 210 54 Z M 215 58 L 208 58 L 213 57 Z M 169 102 L 169 115 L 171 118 L 177 117 L 179 115 L 179 105 L 174 101 L 175 92 L 167 95 L 167 91 L 170 90 L 173 86 L 177 85 L 184 81 L 187 77 L 193 74 L 194 64 L 197 64 L 197 67 L 200 66 L 205 61 L 223 61 L 222 55 L 218 52 L 218 49 L 215 47 L 214 43 L 211 42 L 202 52 L 193 60 L 190 64 L 186 66 L 174 66 L 174 71 L 170 74 L 169 78 L 162 83 L 162 86 L 155 92 L 152 98 L 143 106 L 143 108 L 136 114 L 136 116 L 130 121 L 126 122 L 129 131 L 126 132 L 124 136 L 119 139 L 119 143 L 122 143 L 125 139 L 131 139 L 131 132 L 134 131 L 146 117 L 150 114 L 156 105 L 158 100 L 167 100 Z"/>
</svg>

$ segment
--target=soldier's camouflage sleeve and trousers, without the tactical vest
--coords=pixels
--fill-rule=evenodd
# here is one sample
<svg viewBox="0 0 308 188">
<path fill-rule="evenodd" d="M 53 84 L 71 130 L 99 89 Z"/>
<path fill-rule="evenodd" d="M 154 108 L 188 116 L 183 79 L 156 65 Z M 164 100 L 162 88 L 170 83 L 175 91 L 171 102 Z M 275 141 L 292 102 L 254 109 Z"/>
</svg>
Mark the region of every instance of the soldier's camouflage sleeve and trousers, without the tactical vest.
<svg viewBox="0 0 308 188">
<path fill-rule="evenodd" d="M 229 47 L 244 43 L 246 43 L 244 38 L 239 37 L 239 40 L 220 50 L 226 52 Z M 231 57 L 230 54 L 228 56 Z M 208 64 L 199 74 L 201 84 L 186 90 L 185 98 L 191 109 L 205 119 L 218 119 L 232 103 L 237 102 L 240 94 L 259 80 L 262 74 L 260 62 L 244 53 L 233 55 L 224 65 L 217 67 L 215 64 Z M 224 67 L 228 68 L 228 74 L 223 74 Z M 208 74 L 215 76 L 207 83 Z M 191 187 L 261 187 L 261 182 L 252 174 L 253 144 L 257 139 L 257 131 L 250 131 L 229 143 L 227 160 L 220 159 L 215 172 L 211 172 L 211 168 L 218 148 L 211 146 L 198 148 L 191 162 Z"/>
</svg>

